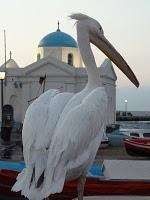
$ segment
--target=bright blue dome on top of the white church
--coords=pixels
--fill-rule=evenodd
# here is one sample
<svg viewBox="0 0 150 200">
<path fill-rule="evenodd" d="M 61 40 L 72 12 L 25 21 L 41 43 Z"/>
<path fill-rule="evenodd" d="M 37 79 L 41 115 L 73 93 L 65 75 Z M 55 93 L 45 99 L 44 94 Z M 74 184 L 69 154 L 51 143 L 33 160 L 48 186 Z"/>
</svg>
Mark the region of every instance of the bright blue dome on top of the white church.
<svg viewBox="0 0 150 200">
<path fill-rule="evenodd" d="M 75 47 L 77 43 L 70 35 L 57 30 L 49 33 L 39 43 L 38 47 Z"/>
</svg>

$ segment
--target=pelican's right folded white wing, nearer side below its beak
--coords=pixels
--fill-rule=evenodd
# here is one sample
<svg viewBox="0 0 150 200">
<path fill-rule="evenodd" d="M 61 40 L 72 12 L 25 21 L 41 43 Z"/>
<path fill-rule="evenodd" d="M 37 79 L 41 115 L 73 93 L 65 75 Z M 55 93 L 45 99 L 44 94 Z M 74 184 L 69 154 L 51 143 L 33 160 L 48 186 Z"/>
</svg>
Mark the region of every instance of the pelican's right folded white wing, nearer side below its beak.
<svg viewBox="0 0 150 200">
<path fill-rule="evenodd" d="M 97 88 L 68 112 L 63 123 L 56 128 L 45 172 L 43 191 L 46 196 L 62 191 L 68 171 L 80 169 L 83 165 L 88 170 L 89 160 L 95 157 L 102 138 L 99 133 L 105 125 L 106 109 L 106 93 L 103 88 Z"/>
</svg>

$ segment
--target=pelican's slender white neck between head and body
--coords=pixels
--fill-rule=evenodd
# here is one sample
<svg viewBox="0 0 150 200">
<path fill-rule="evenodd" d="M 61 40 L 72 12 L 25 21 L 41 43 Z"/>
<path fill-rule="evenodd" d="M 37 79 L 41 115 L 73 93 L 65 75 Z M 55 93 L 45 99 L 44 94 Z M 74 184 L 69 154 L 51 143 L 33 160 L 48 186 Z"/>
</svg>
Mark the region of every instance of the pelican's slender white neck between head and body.
<svg viewBox="0 0 150 200">
<path fill-rule="evenodd" d="M 95 58 L 90 46 L 89 34 L 85 30 L 77 31 L 77 40 L 83 62 L 88 74 L 88 88 L 101 86 L 99 71 L 96 66 Z"/>
</svg>

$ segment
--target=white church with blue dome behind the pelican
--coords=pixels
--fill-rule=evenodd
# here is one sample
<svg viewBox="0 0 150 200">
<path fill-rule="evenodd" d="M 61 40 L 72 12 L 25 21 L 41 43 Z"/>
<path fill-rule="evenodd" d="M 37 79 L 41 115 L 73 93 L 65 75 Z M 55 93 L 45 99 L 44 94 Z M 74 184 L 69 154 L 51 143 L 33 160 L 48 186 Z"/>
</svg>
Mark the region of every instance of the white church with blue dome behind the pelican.
<svg viewBox="0 0 150 200">
<path fill-rule="evenodd" d="M 87 82 L 77 42 L 59 26 L 41 39 L 33 63 L 22 68 L 10 56 L 0 71 L 5 68 L 3 104 L 13 107 L 14 120 L 18 122 L 23 122 L 28 106 L 44 91 L 55 88 L 76 93 Z M 98 69 L 109 100 L 107 124 L 112 124 L 115 123 L 117 77 L 109 59 Z"/>
</svg>

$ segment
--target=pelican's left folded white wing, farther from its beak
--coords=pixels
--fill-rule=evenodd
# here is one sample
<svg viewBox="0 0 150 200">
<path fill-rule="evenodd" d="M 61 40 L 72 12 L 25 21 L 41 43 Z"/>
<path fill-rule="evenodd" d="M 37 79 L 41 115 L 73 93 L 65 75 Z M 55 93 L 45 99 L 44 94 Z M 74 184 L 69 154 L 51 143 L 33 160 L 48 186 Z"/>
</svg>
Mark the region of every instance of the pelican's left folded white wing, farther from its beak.
<svg viewBox="0 0 150 200">
<path fill-rule="evenodd" d="M 48 148 L 64 106 L 73 93 L 49 90 L 28 108 L 23 125 L 23 153 L 26 168 L 18 176 L 14 191 L 32 198 L 45 170 Z M 33 180 L 34 177 L 34 180 Z M 39 180 L 40 179 L 40 180 Z M 32 186 L 32 187 L 31 187 Z"/>
</svg>

